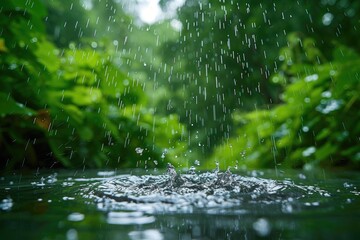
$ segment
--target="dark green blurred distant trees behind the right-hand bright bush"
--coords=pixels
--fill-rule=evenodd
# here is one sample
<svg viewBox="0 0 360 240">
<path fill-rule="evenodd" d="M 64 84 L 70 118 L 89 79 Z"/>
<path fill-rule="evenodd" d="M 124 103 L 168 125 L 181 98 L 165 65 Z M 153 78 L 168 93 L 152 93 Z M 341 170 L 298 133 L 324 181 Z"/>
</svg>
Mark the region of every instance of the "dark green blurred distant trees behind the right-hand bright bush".
<svg viewBox="0 0 360 240">
<path fill-rule="evenodd" d="M 281 57 L 303 64 L 330 58 L 333 41 L 359 51 L 359 10 L 355 1 L 187 0 L 178 12 L 179 37 L 162 45 L 164 62 L 174 69 L 169 78 L 159 77 L 170 89 L 159 109 L 179 114 L 197 133 L 191 148 L 200 142 L 200 154 L 211 154 L 235 134 L 234 112 L 281 101 L 282 85 L 270 76 L 280 70 L 283 46 L 297 49 L 283 49 Z M 298 34 L 307 52 L 300 51 Z"/>
</svg>

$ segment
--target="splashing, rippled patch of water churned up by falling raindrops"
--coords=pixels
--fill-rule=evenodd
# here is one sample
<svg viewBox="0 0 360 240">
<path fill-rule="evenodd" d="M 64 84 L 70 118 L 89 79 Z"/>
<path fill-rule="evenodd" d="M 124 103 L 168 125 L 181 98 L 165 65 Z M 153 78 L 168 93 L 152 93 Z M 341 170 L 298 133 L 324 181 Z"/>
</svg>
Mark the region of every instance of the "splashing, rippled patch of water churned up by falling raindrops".
<svg viewBox="0 0 360 240">
<path fill-rule="evenodd" d="M 168 164 L 163 175 L 121 175 L 88 185 L 85 197 L 104 211 L 193 213 L 196 211 L 246 212 L 249 205 L 278 204 L 283 212 L 296 209 L 296 200 L 309 194 L 329 197 L 318 187 L 296 185 L 289 180 L 269 180 L 220 172 L 178 174 Z M 244 208 L 241 208 L 244 207 Z"/>
</svg>

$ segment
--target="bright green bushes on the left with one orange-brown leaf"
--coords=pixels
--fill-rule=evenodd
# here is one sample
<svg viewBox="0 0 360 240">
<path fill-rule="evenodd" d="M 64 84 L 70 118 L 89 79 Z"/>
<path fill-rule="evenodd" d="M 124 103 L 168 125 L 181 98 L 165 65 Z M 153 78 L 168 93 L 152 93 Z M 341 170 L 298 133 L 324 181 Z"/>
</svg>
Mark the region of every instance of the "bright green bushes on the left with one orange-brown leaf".
<svg viewBox="0 0 360 240">
<path fill-rule="evenodd" d="M 186 150 L 178 118 L 146 108 L 106 49 L 56 48 L 40 1 L 0 6 L 2 167 L 161 167 Z"/>
</svg>

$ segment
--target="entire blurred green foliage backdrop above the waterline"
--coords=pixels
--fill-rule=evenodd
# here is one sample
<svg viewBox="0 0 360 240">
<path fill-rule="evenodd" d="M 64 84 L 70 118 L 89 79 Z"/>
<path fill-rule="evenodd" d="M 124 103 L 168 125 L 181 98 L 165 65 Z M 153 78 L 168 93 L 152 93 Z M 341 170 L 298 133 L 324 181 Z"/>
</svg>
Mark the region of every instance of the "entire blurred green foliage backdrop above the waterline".
<svg viewBox="0 0 360 240">
<path fill-rule="evenodd" d="M 360 168 L 360 3 L 0 3 L 2 169 Z"/>
</svg>

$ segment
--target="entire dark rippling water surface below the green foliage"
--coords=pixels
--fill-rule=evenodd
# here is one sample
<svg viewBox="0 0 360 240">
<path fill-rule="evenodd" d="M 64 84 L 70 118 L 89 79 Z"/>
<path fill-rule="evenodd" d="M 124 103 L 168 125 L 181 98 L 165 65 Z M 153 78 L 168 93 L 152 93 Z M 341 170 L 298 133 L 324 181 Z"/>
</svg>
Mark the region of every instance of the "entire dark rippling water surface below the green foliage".
<svg viewBox="0 0 360 240">
<path fill-rule="evenodd" d="M 0 177 L 1 239 L 358 239 L 354 172 L 60 171 Z"/>
</svg>

